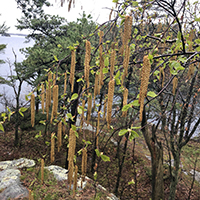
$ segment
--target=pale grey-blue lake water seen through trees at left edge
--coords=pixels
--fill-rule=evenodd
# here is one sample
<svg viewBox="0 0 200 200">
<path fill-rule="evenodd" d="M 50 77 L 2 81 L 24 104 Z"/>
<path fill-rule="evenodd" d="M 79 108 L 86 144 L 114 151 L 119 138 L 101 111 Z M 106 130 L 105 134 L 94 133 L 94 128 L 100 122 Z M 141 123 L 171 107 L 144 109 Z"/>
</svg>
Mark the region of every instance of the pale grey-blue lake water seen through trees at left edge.
<svg viewBox="0 0 200 200">
<path fill-rule="evenodd" d="M 8 76 L 11 75 L 10 72 L 10 65 L 12 65 L 12 73 L 14 74 L 14 67 L 13 63 L 15 61 L 15 56 L 13 54 L 13 51 L 17 55 L 17 62 L 23 61 L 25 59 L 24 55 L 20 53 L 21 48 L 26 48 L 33 46 L 34 42 L 30 41 L 26 43 L 26 39 L 24 36 L 16 36 L 11 35 L 11 37 L 3 37 L 0 36 L 0 44 L 6 44 L 7 47 L 0 53 L 0 59 L 4 60 L 6 63 L 0 65 L 0 76 L 7 79 Z M 16 89 L 17 89 L 18 83 L 16 83 Z M 22 93 L 21 93 L 21 103 L 25 100 L 25 94 L 28 94 L 31 91 L 31 87 L 24 83 L 22 86 Z M 0 94 L 6 95 L 6 98 L 8 102 L 12 105 L 15 105 L 14 100 L 14 90 L 12 87 L 7 85 L 0 85 Z M 1 98 L 2 101 L 2 98 Z M 5 105 L 2 105 L 2 102 L 0 102 L 0 112 L 5 111 Z"/>
</svg>

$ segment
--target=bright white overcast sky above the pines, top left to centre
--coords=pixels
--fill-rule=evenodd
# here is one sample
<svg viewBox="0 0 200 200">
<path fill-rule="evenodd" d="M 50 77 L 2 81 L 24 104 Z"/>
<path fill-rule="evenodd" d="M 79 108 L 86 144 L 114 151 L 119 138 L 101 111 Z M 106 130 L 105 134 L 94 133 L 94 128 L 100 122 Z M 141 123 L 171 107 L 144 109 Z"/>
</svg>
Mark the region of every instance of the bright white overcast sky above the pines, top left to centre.
<svg viewBox="0 0 200 200">
<path fill-rule="evenodd" d="M 65 0 L 67 2 L 67 0 Z M 110 10 L 115 6 L 112 0 L 75 0 L 75 8 L 72 7 L 71 11 L 68 12 L 67 3 L 63 7 L 60 6 L 60 0 L 49 0 L 52 7 L 45 9 L 45 12 L 52 15 L 59 15 L 65 17 L 68 21 L 76 21 L 79 14 L 83 11 L 86 14 L 91 14 L 94 21 L 103 23 L 108 20 Z M 0 6 L 0 24 L 6 22 L 6 25 L 10 27 L 9 33 L 20 33 L 16 30 L 15 25 L 17 24 L 17 18 L 20 19 L 21 11 L 17 9 L 17 3 L 15 0 L 4 0 Z M 27 33 L 27 32 L 23 32 Z"/>
</svg>

